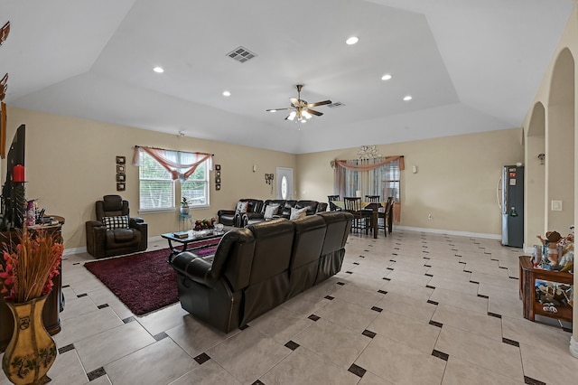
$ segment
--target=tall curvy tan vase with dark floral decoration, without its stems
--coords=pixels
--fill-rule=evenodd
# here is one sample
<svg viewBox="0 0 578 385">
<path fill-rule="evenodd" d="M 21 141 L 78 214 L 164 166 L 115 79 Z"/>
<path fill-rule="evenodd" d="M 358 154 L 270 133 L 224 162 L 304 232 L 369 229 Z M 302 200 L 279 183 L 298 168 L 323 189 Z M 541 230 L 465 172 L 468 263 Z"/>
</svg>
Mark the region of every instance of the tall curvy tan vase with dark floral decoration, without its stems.
<svg viewBox="0 0 578 385">
<path fill-rule="evenodd" d="M 14 384 L 45 384 L 56 359 L 56 343 L 42 324 L 47 296 L 22 304 L 6 302 L 14 317 L 14 334 L 2 358 L 2 370 Z"/>
</svg>

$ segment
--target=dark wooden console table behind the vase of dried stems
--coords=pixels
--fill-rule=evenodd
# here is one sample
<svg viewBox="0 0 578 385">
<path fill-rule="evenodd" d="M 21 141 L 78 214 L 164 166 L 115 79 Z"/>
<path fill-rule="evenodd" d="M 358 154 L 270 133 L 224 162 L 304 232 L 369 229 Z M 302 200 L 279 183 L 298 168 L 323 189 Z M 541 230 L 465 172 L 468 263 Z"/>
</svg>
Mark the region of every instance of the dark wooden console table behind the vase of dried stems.
<svg viewBox="0 0 578 385">
<path fill-rule="evenodd" d="M 58 233 L 61 238 L 61 229 L 64 219 L 58 217 L 57 220 L 59 224 L 49 225 L 49 226 L 33 226 L 32 230 L 35 229 L 45 229 L 49 233 Z M 0 231 L 0 242 L 5 242 L 6 245 L 12 244 L 16 239 L 15 231 Z M 44 308 L 42 310 L 42 321 L 46 331 L 51 335 L 59 333 L 61 331 L 61 316 L 60 312 L 63 310 L 64 304 L 62 302 L 62 270 L 59 268 L 61 274 L 53 278 L 54 286 L 52 288 L 51 294 L 48 295 Z M 12 338 L 12 333 L 14 330 L 14 318 L 12 312 L 6 305 L 5 300 L 0 298 L 0 352 L 4 352 L 10 339 Z"/>
</svg>

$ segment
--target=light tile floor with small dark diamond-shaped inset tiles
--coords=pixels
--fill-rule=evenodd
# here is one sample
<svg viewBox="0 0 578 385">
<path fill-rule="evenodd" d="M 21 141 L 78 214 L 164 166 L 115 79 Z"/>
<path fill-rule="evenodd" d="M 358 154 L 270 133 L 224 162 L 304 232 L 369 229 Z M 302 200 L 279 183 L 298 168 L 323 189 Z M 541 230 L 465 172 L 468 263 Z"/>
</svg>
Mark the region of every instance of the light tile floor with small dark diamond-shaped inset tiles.
<svg viewBox="0 0 578 385">
<path fill-rule="evenodd" d="M 576 383 L 572 325 L 522 317 L 520 249 L 396 230 L 352 234 L 346 250 L 337 276 L 228 334 L 179 304 L 135 316 L 83 267 L 88 254 L 66 256 L 51 383 Z"/>
</svg>

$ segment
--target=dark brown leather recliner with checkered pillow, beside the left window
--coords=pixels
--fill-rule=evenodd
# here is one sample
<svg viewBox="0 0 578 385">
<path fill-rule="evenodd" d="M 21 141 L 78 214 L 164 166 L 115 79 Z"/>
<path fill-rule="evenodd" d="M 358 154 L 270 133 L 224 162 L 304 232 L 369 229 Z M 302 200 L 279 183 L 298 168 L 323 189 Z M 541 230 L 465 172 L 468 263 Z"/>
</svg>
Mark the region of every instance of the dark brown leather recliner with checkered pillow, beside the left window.
<svg viewBox="0 0 578 385">
<path fill-rule="evenodd" d="M 96 202 L 96 221 L 87 221 L 87 251 L 94 258 L 113 257 L 144 251 L 148 225 L 142 218 L 130 218 L 128 202 L 120 195 L 105 195 Z"/>
</svg>

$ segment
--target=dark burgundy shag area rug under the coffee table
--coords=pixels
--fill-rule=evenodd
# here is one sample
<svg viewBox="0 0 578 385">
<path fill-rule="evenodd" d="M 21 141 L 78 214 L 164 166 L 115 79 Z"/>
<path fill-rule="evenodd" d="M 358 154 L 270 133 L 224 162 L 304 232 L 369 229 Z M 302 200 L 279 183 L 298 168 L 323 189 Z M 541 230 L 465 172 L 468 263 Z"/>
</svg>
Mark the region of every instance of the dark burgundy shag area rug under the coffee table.
<svg viewBox="0 0 578 385">
<path fill-rule="evenodd" d="M 199 254 L 214 253 L 218 242 L 219 239 L 214 239 L 212 246 L 200 249 Z M 91 261 L 84 267 L 98 277 L 134 315 L 146 315 L 179 301 L 177 275 L 167 263 L 168 256 L 169 249 L 159 249 Z"/>
</svg>

